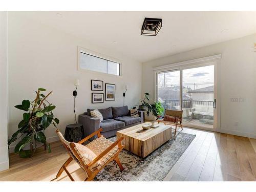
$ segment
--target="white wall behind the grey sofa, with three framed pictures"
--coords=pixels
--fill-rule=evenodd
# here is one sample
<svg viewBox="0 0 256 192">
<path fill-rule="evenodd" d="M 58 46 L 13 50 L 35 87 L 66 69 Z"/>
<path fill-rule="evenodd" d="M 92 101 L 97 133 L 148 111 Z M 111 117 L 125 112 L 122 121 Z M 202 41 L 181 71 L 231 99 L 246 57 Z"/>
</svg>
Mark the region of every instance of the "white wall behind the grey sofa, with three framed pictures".
<svg viewBox="0 0 256 192">
<path fill-rule="evenodd" d="M 34 91 L 39 87 L 53 90 L 49 101 L 56 105 L 53 112 L 60 120 L 59 129 L 62 132 L 67 124 L 75 121 L 72 92 L 76 78 L 80 79 L 76 97 L 77 114 L 83 113 L 87 108 L 122 106 L 125 84 L 129 87 L 125 104 L 129 108 L 139 104 L 142 82 L 140 62 L 30 20 L 22 12 L 8 13 L 8 28 L 9 137 L 17 130 L 23 114 L 13 106 L 23 99 L 34 99 Z M 122 76 L 78 71 L 77 46 L 121 60 Z M 116 84 L 116 100 L 92 104 L 91 79 Z M 47 129 L 46 136 L 49 141 L 57 139 L 53 127 Z"/>
</svg>

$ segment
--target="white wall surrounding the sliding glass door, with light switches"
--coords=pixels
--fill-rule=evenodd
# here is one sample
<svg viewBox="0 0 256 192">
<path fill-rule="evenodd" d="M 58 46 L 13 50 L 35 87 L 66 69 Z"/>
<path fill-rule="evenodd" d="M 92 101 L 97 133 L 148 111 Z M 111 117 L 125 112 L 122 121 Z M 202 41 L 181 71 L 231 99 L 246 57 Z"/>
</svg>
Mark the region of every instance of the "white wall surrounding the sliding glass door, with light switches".
<svg viewBox="0 0 256 192">
<path fill-rule="evenodd" d="M 221 127 L 217 129 L 223 133 L 256 138 L 256 52 L 252 49 L 255 42 L 256 34 L 253 34 L 145 62 L 142 64 L 142 94 L 149 92 L 153 98 L 153 67 L 221 54 L 221 69 L 217 74 L 221 81 L 218 85 L 221 87 Z M 246 99 L 245 102 L 230 102 L 232 97 Z"/>
</svg>

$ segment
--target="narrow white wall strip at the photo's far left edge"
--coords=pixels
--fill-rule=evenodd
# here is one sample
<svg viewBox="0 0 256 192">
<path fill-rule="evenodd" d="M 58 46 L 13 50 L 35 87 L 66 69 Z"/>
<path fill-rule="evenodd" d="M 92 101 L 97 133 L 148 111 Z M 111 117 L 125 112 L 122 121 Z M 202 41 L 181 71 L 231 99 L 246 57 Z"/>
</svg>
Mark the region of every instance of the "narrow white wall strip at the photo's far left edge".
<svg viewBox="0 0 256 192">
<path fill-rule="evenodd" d="M 0 171 L 8 169 L 7 12 L 0 11 Z"/>
</svg>

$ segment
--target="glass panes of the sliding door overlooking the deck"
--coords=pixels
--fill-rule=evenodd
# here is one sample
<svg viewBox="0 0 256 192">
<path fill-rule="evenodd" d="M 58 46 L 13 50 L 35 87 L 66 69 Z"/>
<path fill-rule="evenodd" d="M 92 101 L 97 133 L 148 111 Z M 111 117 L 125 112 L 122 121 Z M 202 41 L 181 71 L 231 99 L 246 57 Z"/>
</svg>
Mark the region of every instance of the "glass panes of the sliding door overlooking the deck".
<svg viewBox="0 0 256 192">
<path fill-rule="evenodd" d="M 215 66 L 157 72 L 157 99 L 164 109 L 182 110 L 183 125 L 212 130 L 215 122 Z"/>
</svg>

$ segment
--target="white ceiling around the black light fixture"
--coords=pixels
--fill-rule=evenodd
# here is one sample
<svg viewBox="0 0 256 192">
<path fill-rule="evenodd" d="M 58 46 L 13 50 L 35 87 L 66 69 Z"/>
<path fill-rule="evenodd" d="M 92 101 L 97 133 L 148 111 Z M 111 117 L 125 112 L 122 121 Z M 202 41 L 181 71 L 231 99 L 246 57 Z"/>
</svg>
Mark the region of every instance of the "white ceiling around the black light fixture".
<svg viewBox="0 0 256 192">
<path fill-rule="evenodd" d="M 256 33 L 256 12 L 23 12 L 44 24 L 145 62 Z M 60 13 L 60 14 L 58 14 Z M 144 17 L 162 18 L 157 36 L 141 36 Z"/>
</svg>

